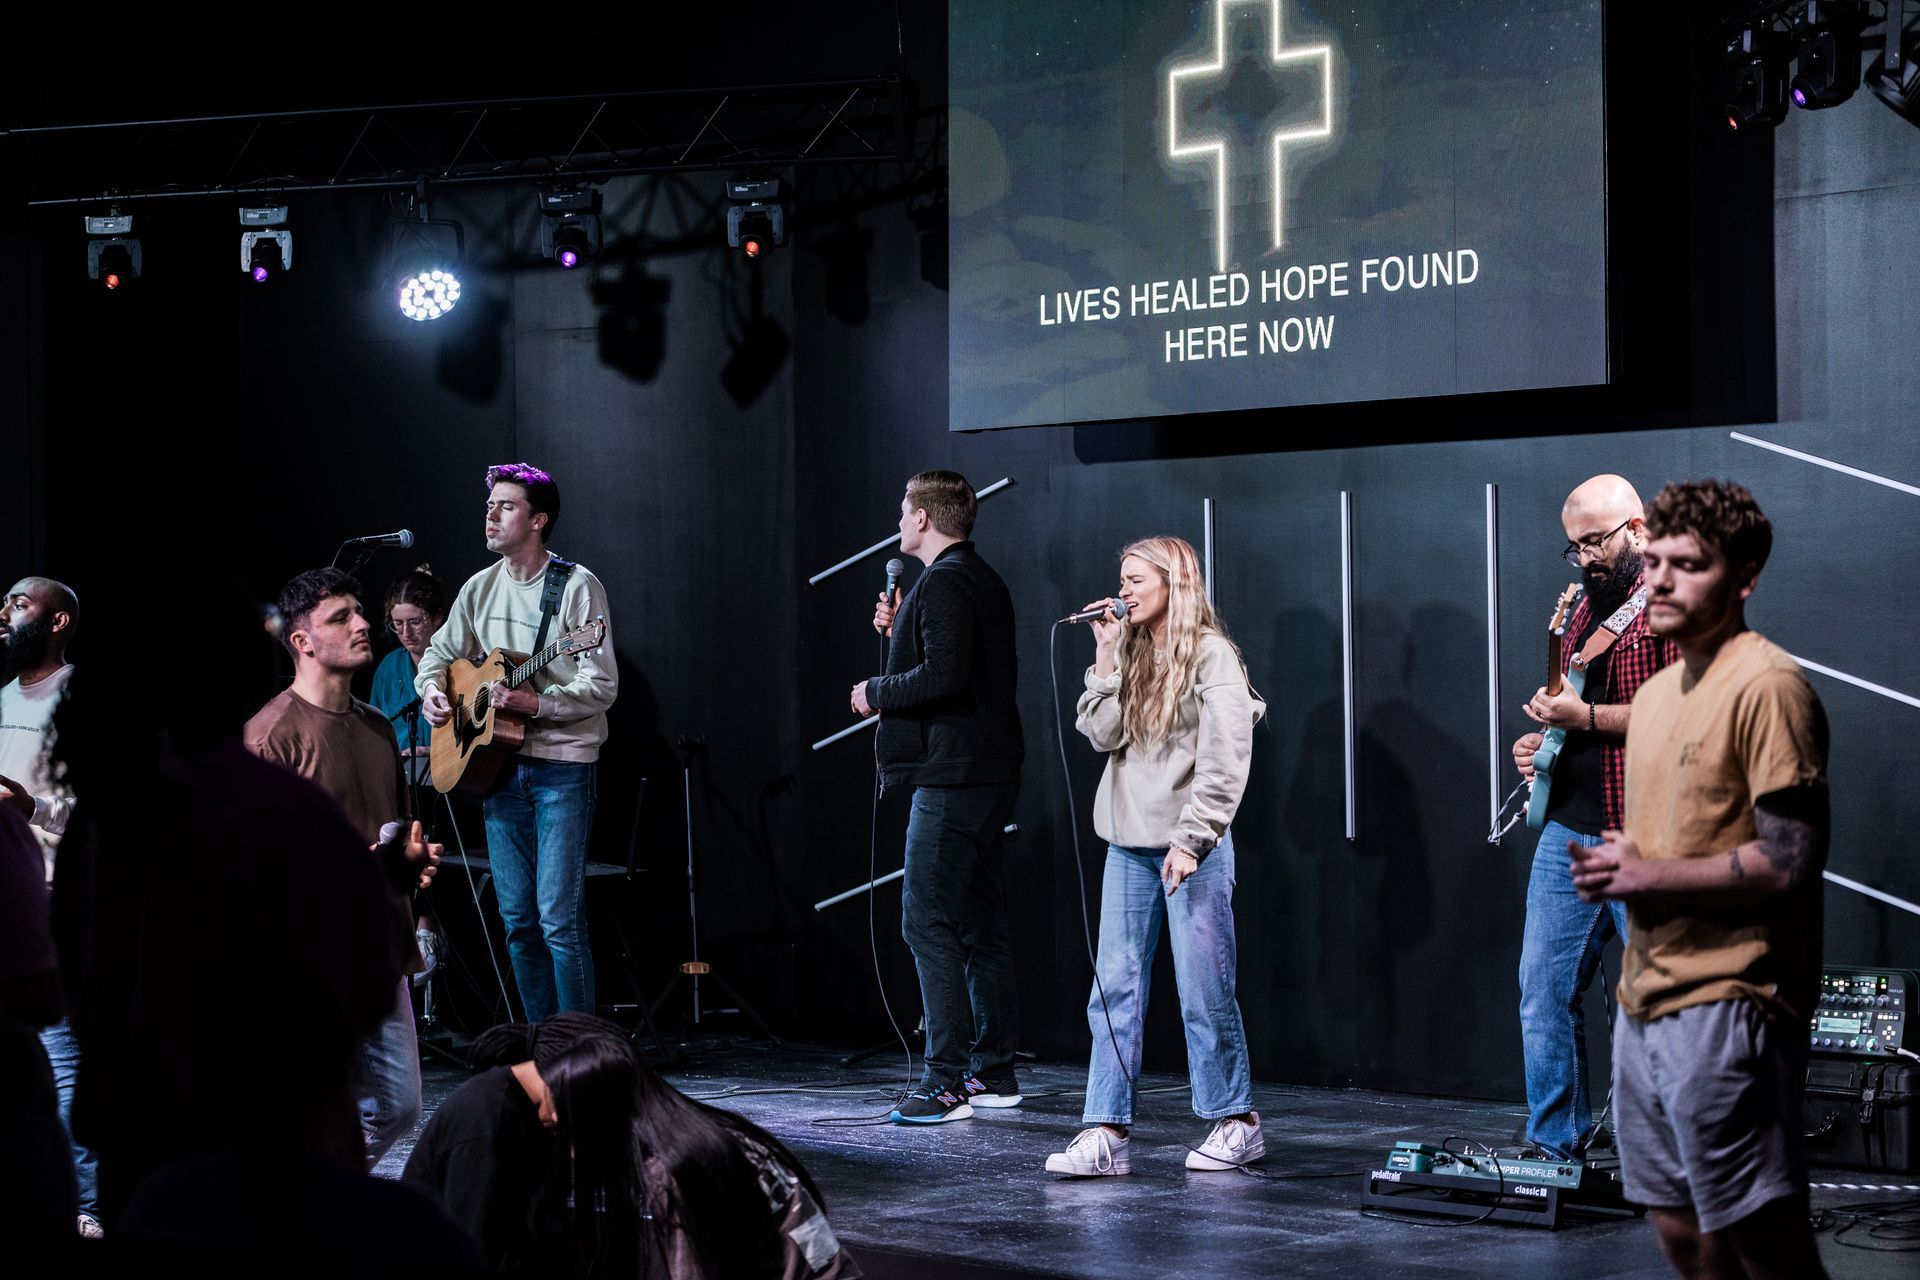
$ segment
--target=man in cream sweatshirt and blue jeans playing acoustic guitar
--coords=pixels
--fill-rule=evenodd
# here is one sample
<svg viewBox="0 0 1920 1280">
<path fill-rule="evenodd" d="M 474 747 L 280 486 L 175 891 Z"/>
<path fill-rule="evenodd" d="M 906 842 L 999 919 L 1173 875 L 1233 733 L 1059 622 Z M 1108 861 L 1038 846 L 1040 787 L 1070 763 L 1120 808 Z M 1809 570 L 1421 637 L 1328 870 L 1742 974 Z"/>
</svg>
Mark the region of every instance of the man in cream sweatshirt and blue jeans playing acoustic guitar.
<svg viewBox="0 0 1920 1280">
<path fill-rule="evenodd" d="M 549 643 L 607 616 L 599 578 L 547 551 L 561 518 L 553 476 L 505 462 L 488 468 L 486 486 L 486 547 L 499 553 L 499 562 L 468 578 L 453 597 L 413 681 L 436 729 L 453 716 L 442 689 L 451 662 L 493 649 L 534 652 L 549 572 L 564 574 Z M 495 706 L 528 718 L 526 743 L 482 808 L 507 952 L 530 1023 L 561 1009 L 593 1011 L 586 860 L 595 762 L 618 685 L 612 651 L 593 649 L 555 658 L 518 689 L 493 687 Z"/>
</svg>

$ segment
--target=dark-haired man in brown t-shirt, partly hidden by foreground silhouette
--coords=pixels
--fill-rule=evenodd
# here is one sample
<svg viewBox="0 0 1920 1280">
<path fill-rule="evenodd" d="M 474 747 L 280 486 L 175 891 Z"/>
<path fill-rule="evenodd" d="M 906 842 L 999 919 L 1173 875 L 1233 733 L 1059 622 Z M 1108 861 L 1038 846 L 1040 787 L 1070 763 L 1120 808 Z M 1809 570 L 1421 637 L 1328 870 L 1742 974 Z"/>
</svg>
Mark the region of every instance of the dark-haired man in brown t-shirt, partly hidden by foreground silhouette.
<svg viewBox="0 0 1920 1280">
<path fill-rule="evenodd" d="M 294 654 L 294 683 L 248 720 L 248 750 L 319 783 L 361 837 L 378 844 L 382 827 L 405 818 L 405 779 L 394 725 L 353 697 L 353 674 L 372 664 L 359 583 L 336 568 L 294 578 L 280 593 L 280 639 Z M 424 887 L 440 846 L 422 841 L 419 821 L 405 841 L 409 860 L 422 865 Z M 405 971 L 420 967 L 403 892 L 394 894 L 394 946 Z M 361 1050 L 359 1094 L 371 1167 L 420 1119 L 420 1046 L 405 979 L 394 1013 Z"/>
</svg>

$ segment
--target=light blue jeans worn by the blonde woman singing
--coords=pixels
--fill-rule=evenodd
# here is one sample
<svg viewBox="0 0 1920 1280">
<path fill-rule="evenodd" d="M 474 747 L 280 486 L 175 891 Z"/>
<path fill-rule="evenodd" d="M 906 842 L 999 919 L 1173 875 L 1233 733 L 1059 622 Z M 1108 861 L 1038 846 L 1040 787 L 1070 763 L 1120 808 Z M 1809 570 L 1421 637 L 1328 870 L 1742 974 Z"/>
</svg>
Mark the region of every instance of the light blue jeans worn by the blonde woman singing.
<svg viewBox="0 0 1920 1280">
<path fill-rule="evenodd" d="M 1133 1082 L 1140 1079 L 1140 1036 L 1162 921 L 1173 942 L 1173 986 L 1187 1027 L 1194 1115 L 1217 1121 L 1254 1109 L 1246 1027 L 1233 994 L 1233 833 L 1221 837 L 1171 898 L 1160 883 L 1165 856 L 1164 848 L 1106 848 L 1098 981 L 1087 1000 L 1092 1065 L 1087 1069 L 1085 1125 L 1133 1123 Z M 1116 1040 L 1121 1057 L 1114 1055 Z"/>
</svg>

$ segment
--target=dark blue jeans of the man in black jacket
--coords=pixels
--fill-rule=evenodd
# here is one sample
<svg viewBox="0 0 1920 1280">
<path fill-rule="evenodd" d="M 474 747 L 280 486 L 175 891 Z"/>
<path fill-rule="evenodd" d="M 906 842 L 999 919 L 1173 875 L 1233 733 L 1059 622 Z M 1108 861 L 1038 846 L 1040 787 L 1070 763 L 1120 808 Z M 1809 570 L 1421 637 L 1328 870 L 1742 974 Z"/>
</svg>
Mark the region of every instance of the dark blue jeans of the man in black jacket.
<svg viewBox="0 0 1920 1280">
<path fill-rule="evenodd" d="M 922 1088 L 970 1071 L 1014 1071 L 1020 1015 L 1006 935 L 1006 827 L 1012 783 L 916 787 L 906 818 L 900 936 L 920 971 L 927 1017 Z"/>
</svg>

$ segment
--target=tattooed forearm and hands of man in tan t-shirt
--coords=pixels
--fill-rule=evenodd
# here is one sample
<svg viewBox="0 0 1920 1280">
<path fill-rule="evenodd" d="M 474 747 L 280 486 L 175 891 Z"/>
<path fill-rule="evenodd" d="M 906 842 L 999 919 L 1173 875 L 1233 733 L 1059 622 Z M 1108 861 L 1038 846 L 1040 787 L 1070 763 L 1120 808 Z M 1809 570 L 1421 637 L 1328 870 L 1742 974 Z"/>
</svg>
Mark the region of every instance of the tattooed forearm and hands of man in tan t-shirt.
<svg viewBox="0 0 1920 1280">
<path fill-rule="evenodd" d="M 1607 831 L 1592 850 L 1571 850 L 1572 881 L 1588 902 L 1644 894 L 1764 898 L 1799 889 L 1826 867 L 1826 791 L 1797 787 L 1753 806 L 1759 839 L 1711 858 L 1645 862 L 1634 841 Z"/>
</svg>

